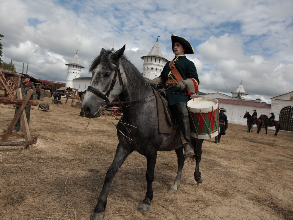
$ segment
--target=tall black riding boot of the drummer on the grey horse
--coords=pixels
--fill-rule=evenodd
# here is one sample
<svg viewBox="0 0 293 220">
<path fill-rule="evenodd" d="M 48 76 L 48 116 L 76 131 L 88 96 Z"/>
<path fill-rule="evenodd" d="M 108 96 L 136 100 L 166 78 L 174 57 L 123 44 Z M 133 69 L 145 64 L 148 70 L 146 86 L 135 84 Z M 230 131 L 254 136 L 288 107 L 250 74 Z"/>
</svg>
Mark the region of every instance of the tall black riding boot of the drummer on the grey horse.
<svg viewBox="0 0 293 220">
<path fill-rule="evenodd" d="M 185 158 L 195 155 L 190 141 L 190 126 L 186 104 L 184 102 L 178 102 L 170 107 L 175 113 L 180 131 L 186 141 L 186 143 L 182 145 L 185 152 Z"/>
</svg>

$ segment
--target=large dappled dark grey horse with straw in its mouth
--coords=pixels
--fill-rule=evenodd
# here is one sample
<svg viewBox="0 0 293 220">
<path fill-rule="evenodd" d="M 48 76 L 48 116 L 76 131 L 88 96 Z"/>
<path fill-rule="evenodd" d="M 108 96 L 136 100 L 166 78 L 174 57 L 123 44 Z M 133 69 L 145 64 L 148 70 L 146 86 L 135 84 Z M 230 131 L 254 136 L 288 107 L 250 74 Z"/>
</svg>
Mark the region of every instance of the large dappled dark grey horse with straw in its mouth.
<svg viewBox="0 0 293 220">
<path fill-rule="evenodd" d="M 123 55 L 124 50 L 125 45 L 115 53 L 102 49 L 100 55 L 93 60 L 90 66 L 93 77 L 81 105 L 84 115 L 88 118 L 93 118 L 101 115 L 97 111 L 100 106 L 105 106 L 106 103 L 110 104 L 117 96 L 120 97 L 121 101 L 133 101 L 129 106 L 123 108 L 123 116 L 116 126 L 117 130 L 119 130 L 117 131 L 119 143 L 113 163 L 107 171 L 103 188 L 98 197 L 98 203 L 91 216 L 91 219 L 95 220 L 104 218 L 110 184 L 119 167 L 132 151 L 136 150 L 147 158 L 147 172 L 145 175 L 147 192 L 142 203 L 137 208 L 139 211 L 148 211 L 151 206 L 150 202 L 153 198 L 152 182 L 154 180 L 157 152 L 175 150 L 177 154 L 177 176 L 174 184 L 168 190 L 169 193 L 175 194 L 179 189 L 185 161 L 181 151 L 179 128 L 177 128 L 172 140 L 169 140 L 171 134 L 159 133 L 156 98 L 152 96 L 153 90 L 139 70 Z M 118 82 L 115 81 L 116 78 Z M 125 123 L 137 128 L 127 128 Z M 131 132 L 129 132 L 130 129 Z M 192 159 L 196 160 L 194 178 L 196 182 L 201 183 L 202 177 L 199 171 L 199 164 L 203 140 L 192 138 L 191 141 L 195 151 Z"/>
</svg>

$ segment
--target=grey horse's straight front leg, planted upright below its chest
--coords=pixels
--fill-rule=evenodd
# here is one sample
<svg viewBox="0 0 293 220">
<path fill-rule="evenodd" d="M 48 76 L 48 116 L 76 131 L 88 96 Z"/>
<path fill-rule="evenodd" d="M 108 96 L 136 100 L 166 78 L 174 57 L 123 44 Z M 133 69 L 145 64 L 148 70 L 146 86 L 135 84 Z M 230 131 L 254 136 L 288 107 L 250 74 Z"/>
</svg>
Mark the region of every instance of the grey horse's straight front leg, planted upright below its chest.
<svg viewBox="0 0 293 220">
<path fill-rule="evenodd" d="M 157 151 L 147 153 L 147 192 L 142 203 L 137 207 L 138 211 L 149 211 L 151 207 L 151 200 L 153 199 L 153 181 L 155 165 L 157 160 Z"/>
</svg>

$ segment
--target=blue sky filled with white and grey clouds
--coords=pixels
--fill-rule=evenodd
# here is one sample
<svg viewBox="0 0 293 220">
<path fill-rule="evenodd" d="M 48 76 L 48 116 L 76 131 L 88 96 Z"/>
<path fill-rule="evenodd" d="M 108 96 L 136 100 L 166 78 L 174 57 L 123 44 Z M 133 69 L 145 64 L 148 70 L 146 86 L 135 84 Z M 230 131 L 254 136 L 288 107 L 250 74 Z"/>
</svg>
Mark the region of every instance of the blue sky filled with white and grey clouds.
<svg viewBox="0 0 293 220">
<path fill-rule="evenodd" d="M 231 96 L 241 80 L 248 99 L 293 91 L 292 0 L 0 0 L 2 60 L 33 77 L 66 81 L 76 50 L 81 76 L 101 48 L 118 50 L 142 72 L 160 35 L 173 58 L 171 34 L 193 45 L 200 91 Z"/>
</svg>

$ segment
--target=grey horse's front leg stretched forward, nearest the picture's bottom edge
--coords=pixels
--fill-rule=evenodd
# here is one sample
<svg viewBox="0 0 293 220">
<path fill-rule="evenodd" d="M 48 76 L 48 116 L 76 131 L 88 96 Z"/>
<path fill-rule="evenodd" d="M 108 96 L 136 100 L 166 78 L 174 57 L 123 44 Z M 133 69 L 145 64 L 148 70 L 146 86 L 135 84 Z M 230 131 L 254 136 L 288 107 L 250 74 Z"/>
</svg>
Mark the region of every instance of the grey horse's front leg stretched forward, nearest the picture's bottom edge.
<svg viewBox="0 0 293 220">
<path fill-rule="evenodd" d="M 112 182 L 116 172 L 120 168 L 120 166 L 123 164 L 123 162 L 125 161 L 127 156 L 130 155 L 130 153 L 132 151 L 133 151 L 132 149 L 124 148 L 120 143 L 118 143 L 115 158 L 107 171 L 104 185 L 103 185 L 102 191 L 98 197 L 98 203 L 94 209 L 93 215 L 91 216 L 91 220 L 92 219 L 94 219 L 94 220 L 104 219 L 105 208 L 106 208 L 106 204 L 107 204 L 107 197 L 108 197 L 108 192 L 109 192 L 111 182 Z"/>
</svg>

